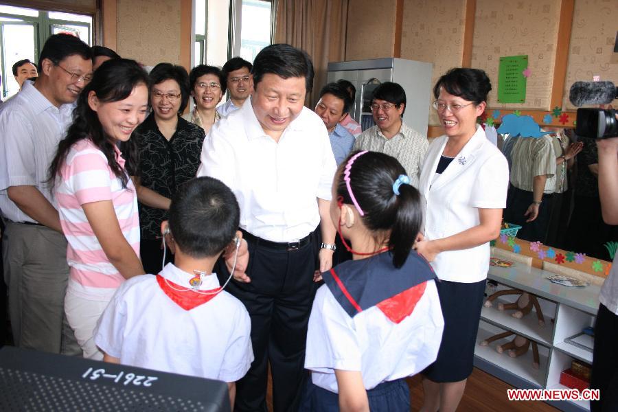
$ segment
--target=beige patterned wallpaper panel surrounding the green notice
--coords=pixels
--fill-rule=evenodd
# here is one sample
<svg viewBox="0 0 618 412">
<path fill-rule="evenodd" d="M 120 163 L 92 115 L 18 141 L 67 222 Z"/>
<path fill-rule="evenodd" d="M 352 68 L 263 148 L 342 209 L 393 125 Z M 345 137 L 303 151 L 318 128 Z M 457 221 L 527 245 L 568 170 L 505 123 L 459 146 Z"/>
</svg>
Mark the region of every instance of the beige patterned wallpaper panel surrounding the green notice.
<svg viewBox="0 0 618 412">
<path fill-rule="evenodd" d="M 615 0 L 614 0 L 615 1 Z M 560 0 L 477 0 L 472 41 L 472 67 L 483 69 L 492 81 L 488 104 L 492 108 L 549 110 Z M 528 55 L 526 101 L 498 102 L 498 67 L 502 56 Z"/>
</svg>

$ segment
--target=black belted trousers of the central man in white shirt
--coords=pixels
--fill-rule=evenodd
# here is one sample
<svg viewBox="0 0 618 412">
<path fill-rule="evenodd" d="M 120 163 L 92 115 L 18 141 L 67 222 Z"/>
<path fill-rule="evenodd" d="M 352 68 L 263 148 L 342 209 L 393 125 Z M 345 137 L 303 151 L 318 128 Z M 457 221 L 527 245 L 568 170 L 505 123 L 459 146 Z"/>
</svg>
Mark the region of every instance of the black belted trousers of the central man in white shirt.
<svg viewBox="0 0 618 412">
<path fill-rule="evenodd" d="M 236 411 L 268 411 L 268 364 L 273 375 L 275 412 L 296 411 L 308 377 L 304 370 L 307 325 L 315 294 L 313 273 L 317 250 L 308 242 L 297 250 L 249 244 L 247 275 L 251 283 L 232 280 L 227 291 L 240 299 L 251 317 L 255 360 L 236 382 Z M 229 272 L 219 264 L 220 282 Z"/>
</svg>

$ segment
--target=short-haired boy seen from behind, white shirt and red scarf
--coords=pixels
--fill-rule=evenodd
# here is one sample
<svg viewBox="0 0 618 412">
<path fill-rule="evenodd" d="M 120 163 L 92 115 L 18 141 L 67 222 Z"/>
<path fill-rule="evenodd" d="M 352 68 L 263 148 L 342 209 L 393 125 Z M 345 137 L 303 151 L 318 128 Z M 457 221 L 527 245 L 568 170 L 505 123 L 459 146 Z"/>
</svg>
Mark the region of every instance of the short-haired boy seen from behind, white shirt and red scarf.
<svg viewBox="0 0 618 412">
<path fill-rule="evenodd" d="M 107 362 L 228 382 L 233 409 L 235 382 L 253 361 L 251 321 L 212 270 L 234 240 L 238 202 L 223 183 L 201 177 L 176 193 L 169 216 L 161 231 L 175 265 L 124 282 L 99 319 L 95 343 Z"/>
</svg>

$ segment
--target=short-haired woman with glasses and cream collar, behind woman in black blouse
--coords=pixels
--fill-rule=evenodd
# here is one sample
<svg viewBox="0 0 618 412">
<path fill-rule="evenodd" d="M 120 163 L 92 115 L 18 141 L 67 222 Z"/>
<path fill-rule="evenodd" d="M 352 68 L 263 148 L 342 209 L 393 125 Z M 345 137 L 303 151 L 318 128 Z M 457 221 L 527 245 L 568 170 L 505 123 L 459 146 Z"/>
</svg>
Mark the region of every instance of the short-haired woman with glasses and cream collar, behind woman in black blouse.
<svg viewBox="0 0 618 412">
<path fill-rule="evenodd" d="M 225 76 L 218 67 L 198 65 L 189 73 L 189 84 L 195 108 L 191 113 L 183 115 L 183 119 L 208 133 L 221 118 L 217 104 L 225 94 Z"/>
</svg>

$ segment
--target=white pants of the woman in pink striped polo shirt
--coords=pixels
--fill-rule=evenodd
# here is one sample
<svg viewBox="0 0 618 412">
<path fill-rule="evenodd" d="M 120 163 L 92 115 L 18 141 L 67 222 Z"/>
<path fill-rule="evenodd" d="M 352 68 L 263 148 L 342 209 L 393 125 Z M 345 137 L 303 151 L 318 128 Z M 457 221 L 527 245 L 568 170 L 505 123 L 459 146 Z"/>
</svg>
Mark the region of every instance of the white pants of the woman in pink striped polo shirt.
<svg viewBox="0 0 618 412">
<path fill-rule="evenodd" d="M 111 297 L 110 297 L 111 300 Z M 96 301 L 78 296 L 71 288 L 67 288 L 65 297 L 65 312 L 69 325 L 75 332 L 75 337 L 84 351 L 84 358 L 95 361 L 103 360 L 103 352 L 94 343 L 94 329 L 109 301 Z"/>
</svg>

